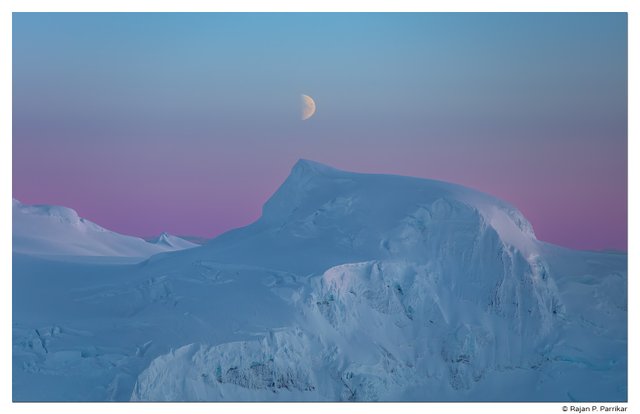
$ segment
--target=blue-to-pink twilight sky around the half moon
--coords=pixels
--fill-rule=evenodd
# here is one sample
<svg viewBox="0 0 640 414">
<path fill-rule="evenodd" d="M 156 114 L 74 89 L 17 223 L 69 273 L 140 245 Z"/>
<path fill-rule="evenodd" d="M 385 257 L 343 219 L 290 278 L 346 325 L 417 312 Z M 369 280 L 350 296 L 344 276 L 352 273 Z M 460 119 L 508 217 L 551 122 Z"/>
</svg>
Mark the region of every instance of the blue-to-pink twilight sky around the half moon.
<svg viewBox="0 0 640 414">
<path fill-rule="evenodd" d="M 249 224 L 307 158 L 626 250 L 627 15 L 14 13 L 12 145 L 15 198 L 124 234 Z"/>
</svg>

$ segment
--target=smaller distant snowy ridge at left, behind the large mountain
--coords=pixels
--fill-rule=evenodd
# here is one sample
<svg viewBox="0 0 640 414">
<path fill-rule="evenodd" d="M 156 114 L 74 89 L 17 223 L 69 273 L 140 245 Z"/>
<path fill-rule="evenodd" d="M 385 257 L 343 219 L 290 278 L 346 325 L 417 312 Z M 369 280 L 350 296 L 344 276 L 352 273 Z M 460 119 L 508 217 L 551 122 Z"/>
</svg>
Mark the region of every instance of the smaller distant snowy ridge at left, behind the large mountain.
<svg viewBox="0 0 640 414">
<path fill-rule="evenodd" d="M 61 206 L 13 200 L 13 252 L 36 255 L 149 257 L 196 244 L 163 233 L 152 243 L 109 231 Z"/>
</svg>

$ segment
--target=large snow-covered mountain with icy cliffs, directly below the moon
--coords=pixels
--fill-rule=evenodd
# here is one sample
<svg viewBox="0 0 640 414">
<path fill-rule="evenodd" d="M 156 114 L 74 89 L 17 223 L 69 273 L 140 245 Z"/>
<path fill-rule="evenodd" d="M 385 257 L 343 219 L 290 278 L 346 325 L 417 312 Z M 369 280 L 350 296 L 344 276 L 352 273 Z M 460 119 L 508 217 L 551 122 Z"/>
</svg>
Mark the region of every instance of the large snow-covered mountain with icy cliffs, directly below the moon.
<svg viewBox="0 0 640 414">
<path fill-rule="evenodd" d="M 14 259 L 14 399 L 627 398 L 626 255 L 457 185 L 301 160 L 255 223 L 86 271 Z"/>
</svg>

